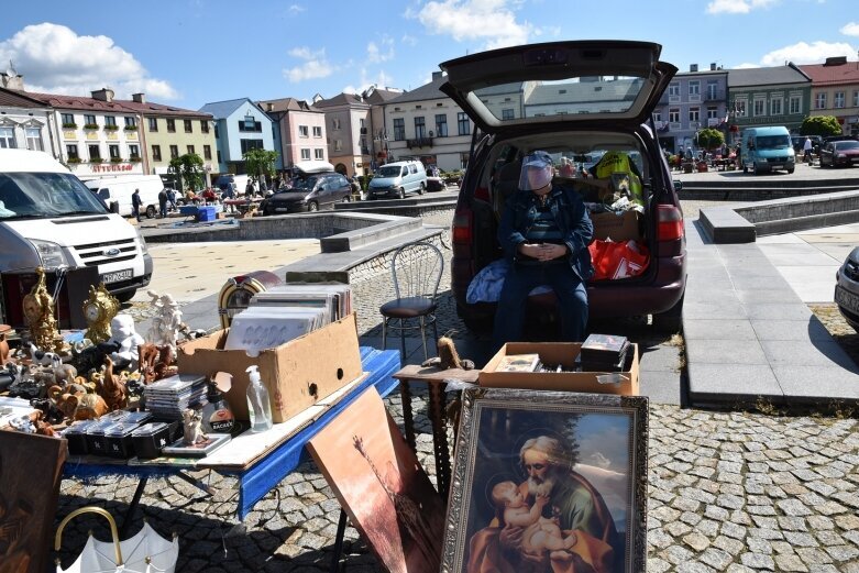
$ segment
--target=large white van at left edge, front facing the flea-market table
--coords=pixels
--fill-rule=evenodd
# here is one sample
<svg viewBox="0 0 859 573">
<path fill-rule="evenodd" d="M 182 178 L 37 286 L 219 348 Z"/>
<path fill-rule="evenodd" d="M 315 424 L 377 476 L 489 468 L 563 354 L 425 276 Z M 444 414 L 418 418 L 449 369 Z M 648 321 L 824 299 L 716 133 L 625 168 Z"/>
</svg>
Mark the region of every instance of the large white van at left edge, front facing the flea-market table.
<svg viewBox="0 0 859 573">
<path fill-rule="evenodd" d="M 42 266 L 97 267 L 98 280 L 120 301 L 150 284 L 146 242 L 66 167 L 44 152 L 0 150 L 0 275 Z M 0 321 L 20 305 L 5 293 Z M 82 302 L 82 301 L 81 301 Z"/>
</svg>

